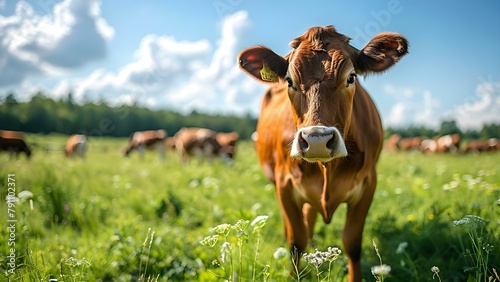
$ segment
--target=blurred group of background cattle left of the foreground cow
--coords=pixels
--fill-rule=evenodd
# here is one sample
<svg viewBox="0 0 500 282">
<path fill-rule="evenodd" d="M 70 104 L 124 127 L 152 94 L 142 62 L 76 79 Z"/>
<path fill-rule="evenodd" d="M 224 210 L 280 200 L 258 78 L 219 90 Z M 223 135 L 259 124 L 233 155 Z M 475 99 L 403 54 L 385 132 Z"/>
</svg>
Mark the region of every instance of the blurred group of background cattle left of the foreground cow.
<svg viewBox="0 0 500 282">
<path fill-rule="evenodd" d="M 124 156 L 128 157 L 136 150 L 142 158 L 145 150 L 157 150 L 160 160 L 164 160 L 165 149 L 168 148 L 176 151 L 183 162 L 187 162 L 190 157 L 230 160 L 234 157 L 238 139 L 239 134 L 236 132 L 215 132 L 206 128 L 182 128 L 172 137 L 168 137 L 162 129 L 137 131 L 130 135 Z M 65 156 L 85 158 L 88 141 L 88 137 L 83 134 L 69 136 L 64 148 Z M 11 155 L 25 153 L 30 158 L 31 150 L 24 133 L 0 130 L 0 152 L 9 152 Z"/>
</svg>

